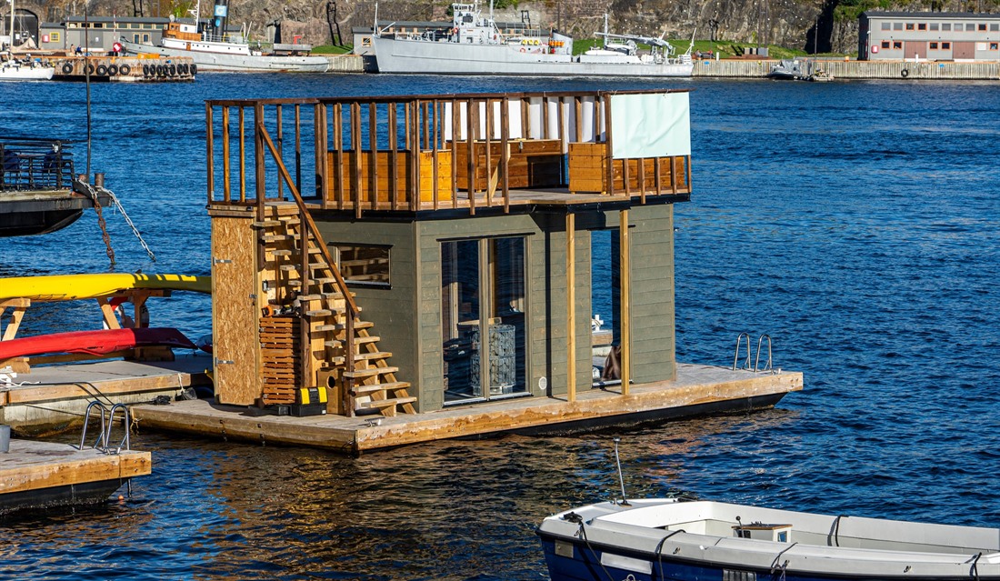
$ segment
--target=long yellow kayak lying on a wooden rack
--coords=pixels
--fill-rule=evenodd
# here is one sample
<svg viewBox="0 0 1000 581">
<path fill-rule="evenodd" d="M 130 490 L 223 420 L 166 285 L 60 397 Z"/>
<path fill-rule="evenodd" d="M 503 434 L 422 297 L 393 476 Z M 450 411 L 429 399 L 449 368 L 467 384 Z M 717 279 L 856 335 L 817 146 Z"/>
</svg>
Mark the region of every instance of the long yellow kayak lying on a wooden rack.
<svg viewBox="0 0 1000 581">
<path fill-rule="evenodd" d="M 75 301 L 129 289 L 186 290 L 211 294 L 212 277 L 184 274 L 60 274 L 0 278 L 0 301 Z"/>
</svg>

